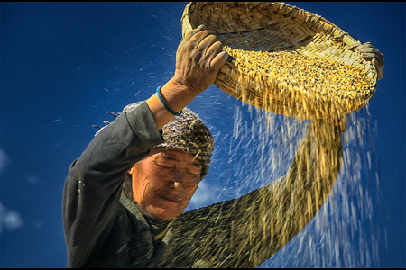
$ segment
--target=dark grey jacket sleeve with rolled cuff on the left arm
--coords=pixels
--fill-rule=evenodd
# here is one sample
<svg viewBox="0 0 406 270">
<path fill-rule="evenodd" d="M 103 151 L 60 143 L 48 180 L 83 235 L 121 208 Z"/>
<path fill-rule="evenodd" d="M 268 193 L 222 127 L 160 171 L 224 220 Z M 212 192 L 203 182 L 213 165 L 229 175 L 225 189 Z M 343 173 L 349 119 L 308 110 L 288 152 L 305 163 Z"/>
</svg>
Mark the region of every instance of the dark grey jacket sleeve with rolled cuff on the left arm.
<svg viewBox="0 0 406 270">
<path fill-rule="evenodd" d="M 134 164 L 163 141 L 146 103 L 100 130 L 69 167 L 62 199 L 68 267 L 84 266 L 103 245 Z"/>
</svg>

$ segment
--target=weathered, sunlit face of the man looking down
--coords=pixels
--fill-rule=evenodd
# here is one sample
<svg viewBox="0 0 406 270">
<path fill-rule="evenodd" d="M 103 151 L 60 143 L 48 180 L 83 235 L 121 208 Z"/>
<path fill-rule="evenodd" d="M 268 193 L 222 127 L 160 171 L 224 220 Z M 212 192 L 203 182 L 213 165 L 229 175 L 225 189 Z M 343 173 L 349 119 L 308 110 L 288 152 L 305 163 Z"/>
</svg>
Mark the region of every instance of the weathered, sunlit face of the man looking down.
<svg viewBox="0 0 406 270">
<path fill-rule="evenodd" d="M 201 163 L 186 152 L 152 149 L 131 169 L 133 196 L 143 210 L 171 220 L 188 206 L 200 182 Z"/>
</svg>

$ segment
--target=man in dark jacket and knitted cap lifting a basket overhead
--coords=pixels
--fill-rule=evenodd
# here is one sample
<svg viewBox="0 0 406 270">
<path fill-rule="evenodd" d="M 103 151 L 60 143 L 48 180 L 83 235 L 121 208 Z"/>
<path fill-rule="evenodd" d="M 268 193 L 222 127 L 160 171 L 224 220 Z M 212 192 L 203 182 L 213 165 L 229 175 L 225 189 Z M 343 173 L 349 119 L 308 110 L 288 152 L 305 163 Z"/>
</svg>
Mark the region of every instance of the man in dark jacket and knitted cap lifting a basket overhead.
<svg viewBox="0 0 406 270">
<path fill-rule="evenodd" d="M 358 49 L 381 78 L 383 55 L 369 43 Z M 316 215 L 342 164 L 345 121 L 312 121 L 280 180 L 182 213 L 214 146 L 185 106 L 226 59 L 205 26 L 190 31 L 171 80 L 127 106 L 72 163 L 63 193 L 68 267 L 256 267 Z"/>
</svg>

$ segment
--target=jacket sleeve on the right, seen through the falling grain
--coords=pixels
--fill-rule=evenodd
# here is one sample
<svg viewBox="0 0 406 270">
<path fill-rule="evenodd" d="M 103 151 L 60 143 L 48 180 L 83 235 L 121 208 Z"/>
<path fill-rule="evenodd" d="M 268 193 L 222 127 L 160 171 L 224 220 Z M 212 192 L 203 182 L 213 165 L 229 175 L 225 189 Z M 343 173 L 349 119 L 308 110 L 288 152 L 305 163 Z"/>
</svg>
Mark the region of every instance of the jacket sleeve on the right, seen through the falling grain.
<svg viewBox="0 0 406 270">
<path fill-rule="evenodd" d="M 169 266 L 260 266 L 313 219 L 341 165 L 340 132 L 312 122 L 281 179 L 238 199 L 180 216 L 173 226 Z"/>
</svg>

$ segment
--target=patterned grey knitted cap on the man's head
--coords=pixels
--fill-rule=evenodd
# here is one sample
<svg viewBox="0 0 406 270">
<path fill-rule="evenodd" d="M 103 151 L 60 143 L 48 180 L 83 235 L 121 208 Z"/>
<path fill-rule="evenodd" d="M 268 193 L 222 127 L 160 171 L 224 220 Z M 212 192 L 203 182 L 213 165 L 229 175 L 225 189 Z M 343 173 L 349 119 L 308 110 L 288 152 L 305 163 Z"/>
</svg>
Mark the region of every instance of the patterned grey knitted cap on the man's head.
<svg viewBox="0 0 406 270">
<path fill-rule="evenodd" d="M 139 103 L 125 106 L 123 112 L 130 112 Z M 154 148 L 172 148 L 187 152 L 201 161 L 203 165 L 200 174 L 201 179 L 208 174 L 208 166 L 214 149 L 214 139 L 198 114 L 184 108 L 179 116 L 175 116 L 163 126 L 162 136 L 164 141 Z"/>
</svg>

